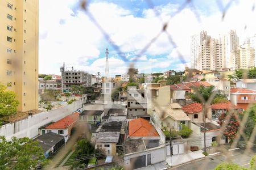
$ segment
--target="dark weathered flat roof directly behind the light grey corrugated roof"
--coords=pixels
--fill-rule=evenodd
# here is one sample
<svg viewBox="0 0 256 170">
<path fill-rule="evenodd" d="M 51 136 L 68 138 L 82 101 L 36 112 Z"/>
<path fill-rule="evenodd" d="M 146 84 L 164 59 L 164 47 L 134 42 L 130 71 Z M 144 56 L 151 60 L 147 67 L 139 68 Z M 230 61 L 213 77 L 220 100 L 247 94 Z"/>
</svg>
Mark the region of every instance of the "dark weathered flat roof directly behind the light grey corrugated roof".
<svg viewBox="0 0 256 170">
<path fill-rule="evenodd" d="M 122 122 L 104 122 L 96 130 L 97 132 L 120 132 Z"/>
</svg>

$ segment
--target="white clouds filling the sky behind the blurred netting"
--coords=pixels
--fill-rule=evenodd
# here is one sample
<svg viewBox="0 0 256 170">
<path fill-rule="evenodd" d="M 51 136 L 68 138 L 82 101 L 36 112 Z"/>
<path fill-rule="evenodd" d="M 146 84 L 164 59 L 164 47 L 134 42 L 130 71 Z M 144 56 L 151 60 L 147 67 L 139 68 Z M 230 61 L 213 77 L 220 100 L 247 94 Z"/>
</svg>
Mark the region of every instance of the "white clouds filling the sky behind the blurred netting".
<svg viewBox="0 0 256 170">
<path fill-rule="evenodd" d="M 106 41 L 98 28 L 90 22 L 82 11 L 71 10 L 69 0 L 40 1 L 39 16 L 39 72 L 58 73 L 60 65 L 66 62 L 77 69 L 90 73 L 104 72 L 104 51 Z M 217 8 L 217 6 L 216 6 Z M 166 6 L 156 7 L 160 17 L 166 22 L 177 9 L 177 5 L 169 3 Z M 207 9 L 205 9 L 207 10 Z M 97 19 L 101 27 L 109 33 L 110 38 L 121 47 L 126 56 L 133 59 L 162 30 L 162 22 L 151 9 L 143 10 L 143 16 L 134 16 L 130 10 L 114 3 L 90 3 L 89 11 Z M 238 12 L 239 11 L 239 12 Z M 177 50 L 183 55 L 187 65 L 190 61 L 190 37 L 205 29 L 209 35 L 218 36 L 219 33 L 236 29 L 241 41 L 246 36 L 253 35 L 256 30 L 255 13 L 251 12 L 248 1 L 240 1 L 229 8 L 225 20 L 221 20 L 221 12 L 207 14 L 207 11 L 197 11 L 201 16 L 201 23 L 190 8 L 185 8 L 168 24 L 167 31 L 176 42 Z M 247 25 L 246 31 L 244 30 Z M 150 65 L 137 66 L 140 70 L 154 68 L 168 69 L 168 67 L 181 68 L 184 65 L 174 65 L 179 62 L 177 50 L 172 50 L 167 36 L 163 33 L 151 44 L 140 58 L 140 61 Z M 114 55 L 114 54 L 113 54 Z M 153 59 L 151 56 L 161 56 L 163 59 Z M 165 57 L 164 57 L 165 56 Z M 113 62 L 113 63 L 112 63 Z M 90 64 L 91 63 L 91 64 Z M 109 58 L 109 65 L 113 66 L 116 74 L 125 73 L 127 63 L 117 57 Z M 111 71 L 110 71 L 111 72 Z"/>
</svg>

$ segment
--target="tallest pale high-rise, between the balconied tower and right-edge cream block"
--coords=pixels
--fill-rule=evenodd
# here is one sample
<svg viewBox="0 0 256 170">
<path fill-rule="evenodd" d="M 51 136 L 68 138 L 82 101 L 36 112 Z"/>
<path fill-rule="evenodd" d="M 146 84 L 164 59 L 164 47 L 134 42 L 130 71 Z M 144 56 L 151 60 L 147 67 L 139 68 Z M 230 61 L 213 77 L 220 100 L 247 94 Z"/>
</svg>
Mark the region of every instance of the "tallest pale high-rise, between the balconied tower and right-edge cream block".
<svg viewBox="0 0 256 170">
<path fill-rule="evenodd" d="M 230 54 L 239 45 L 239 37 L 237 32 L 230 30 L 228 33 L 220 35 L 220 44 L 222 44 L 222 62 L 226 68 L 230 68 Z"/>
</svg>

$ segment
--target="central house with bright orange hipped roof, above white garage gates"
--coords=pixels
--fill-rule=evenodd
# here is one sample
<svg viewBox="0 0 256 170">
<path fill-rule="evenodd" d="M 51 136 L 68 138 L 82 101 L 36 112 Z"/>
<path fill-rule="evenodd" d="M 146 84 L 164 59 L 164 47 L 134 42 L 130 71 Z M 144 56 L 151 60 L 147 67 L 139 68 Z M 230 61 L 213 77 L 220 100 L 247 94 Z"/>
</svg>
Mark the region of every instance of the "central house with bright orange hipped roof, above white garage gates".
<svg viewBox="0 0 256 170">
<path fill-rule="evenodd" d="M 142 138 L 156 147 L 159 145 L 160 135 L 150 122 L 144 118 L 136 118 L 129 121 L 128 138 Z"/>
</svg>

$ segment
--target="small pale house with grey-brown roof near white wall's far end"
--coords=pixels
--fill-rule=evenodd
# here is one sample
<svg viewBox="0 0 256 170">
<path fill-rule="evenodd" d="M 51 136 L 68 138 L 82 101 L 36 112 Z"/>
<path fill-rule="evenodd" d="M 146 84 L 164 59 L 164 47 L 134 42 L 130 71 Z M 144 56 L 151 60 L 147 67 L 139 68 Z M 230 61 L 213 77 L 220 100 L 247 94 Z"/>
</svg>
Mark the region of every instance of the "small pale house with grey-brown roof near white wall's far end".
<svg viewBox="0 0 256 170">
<path fill-rule="evenodd" d="M 80 120 L 81 121 L 85 121 L 88 124 L 100 124 L 102 117 L 104 116 L 104 111 L 100 110 L 86 110 L 86 111 L 82 111 L 82 113 L 80 114 Z"/>
</svg>

